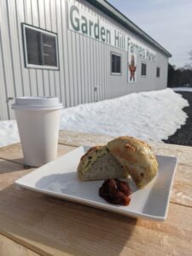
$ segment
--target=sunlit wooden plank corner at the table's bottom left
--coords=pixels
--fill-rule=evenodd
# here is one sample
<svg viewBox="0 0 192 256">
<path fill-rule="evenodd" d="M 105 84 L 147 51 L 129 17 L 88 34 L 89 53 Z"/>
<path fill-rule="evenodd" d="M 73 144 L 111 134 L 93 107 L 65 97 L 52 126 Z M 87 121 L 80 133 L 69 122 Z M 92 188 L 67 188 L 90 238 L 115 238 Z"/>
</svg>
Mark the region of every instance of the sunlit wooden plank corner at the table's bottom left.
<svg viewBox="0 0 192 256">
<path fill-rule="evenodd" d="M 34 253 L 19 243 L 10 240 L 6 236 L 0 235 L 0 255 L 1 256 L 38 256 L 40 254 Z"/>
</svg>

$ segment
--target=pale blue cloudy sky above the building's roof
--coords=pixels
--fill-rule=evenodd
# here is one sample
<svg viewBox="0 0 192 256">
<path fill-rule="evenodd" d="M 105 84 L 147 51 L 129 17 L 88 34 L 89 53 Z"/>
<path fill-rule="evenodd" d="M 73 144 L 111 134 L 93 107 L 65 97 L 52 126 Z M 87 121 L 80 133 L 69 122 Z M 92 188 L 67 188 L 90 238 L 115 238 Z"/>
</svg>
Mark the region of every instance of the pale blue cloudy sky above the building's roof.
<svg viewBox="0 0 192 256">
<path fill-rule="evenodd" d="M 108 0 L 147 32 L 172 58 L 176 67 L 189 63 L 192 50 L 192 0 Z"/>
</svg>

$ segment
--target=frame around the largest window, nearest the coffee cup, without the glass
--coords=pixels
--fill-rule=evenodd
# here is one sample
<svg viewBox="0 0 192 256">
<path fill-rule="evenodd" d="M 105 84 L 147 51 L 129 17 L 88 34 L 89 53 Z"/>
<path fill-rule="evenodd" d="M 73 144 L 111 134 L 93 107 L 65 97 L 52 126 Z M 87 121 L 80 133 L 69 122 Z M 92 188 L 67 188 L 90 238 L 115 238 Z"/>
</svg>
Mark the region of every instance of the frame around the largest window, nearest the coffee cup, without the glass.
<svg viewBox="0 0 192 256">
<path fill-rule="evenodd" d="M 48 35 L 50 37 L 55 38 L 55 58 L 56 58 L 56 66 L 50 65 L 36 65 L 28 63 L 27 57 L 27 48 L 26 48 L 26 28 L 32 29 L 36 32 L 41 32 L 42 37 L 43 35 Z M 30 24 L 21 23 L 21 30 L 22 30 L 22 41 L 23 41 L 23 52 L 24 52 L 24 61 L 26 68 L 35 68 L 35 69 L 49 69 L 49 70 L 59 70 L 59 54 L 58 54 L 58 35 L 55 32 L 50 32 L 48 30 L 42 29 L 38 26 L 32 26 Z M 40 45 L 42 47 L 42 45 Z"/>
</svg>

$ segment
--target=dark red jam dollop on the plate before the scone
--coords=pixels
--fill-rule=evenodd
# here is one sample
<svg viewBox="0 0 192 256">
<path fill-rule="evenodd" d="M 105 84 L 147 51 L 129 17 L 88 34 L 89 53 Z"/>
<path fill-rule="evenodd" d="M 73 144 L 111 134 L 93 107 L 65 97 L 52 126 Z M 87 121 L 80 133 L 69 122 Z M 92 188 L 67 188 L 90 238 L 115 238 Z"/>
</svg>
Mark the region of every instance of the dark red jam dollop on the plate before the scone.
<svg viewBox="0 0 192 256">
<path fill-rule="evenodd" d="M 99 195 L 114 205 L 128 206 L 131 201 L 131 189 L 118 178 L 107 178 L 99 189 Z"/>
</svg>

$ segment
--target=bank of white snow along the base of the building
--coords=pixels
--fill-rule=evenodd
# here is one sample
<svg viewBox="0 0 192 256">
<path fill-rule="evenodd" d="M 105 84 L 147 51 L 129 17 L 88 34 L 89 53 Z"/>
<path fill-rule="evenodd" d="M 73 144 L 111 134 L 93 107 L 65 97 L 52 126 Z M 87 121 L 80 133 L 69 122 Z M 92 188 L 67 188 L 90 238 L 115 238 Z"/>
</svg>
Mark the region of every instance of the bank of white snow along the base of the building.
<svg viewBox="0 0 192 256">
<path fill-rule="evenodd" d="M 182 109 L 186 106 L 189 103 L 171 89 L 132 93 L 65 108 L 60 129 L 160 142 L 185 123 L 187 115 Z M 15 120 L 0 121 L 0 147 L 16 142 L 19 136 Z"/>
</svg>

